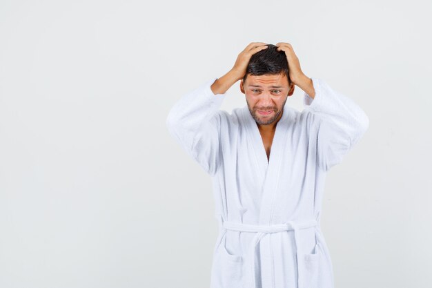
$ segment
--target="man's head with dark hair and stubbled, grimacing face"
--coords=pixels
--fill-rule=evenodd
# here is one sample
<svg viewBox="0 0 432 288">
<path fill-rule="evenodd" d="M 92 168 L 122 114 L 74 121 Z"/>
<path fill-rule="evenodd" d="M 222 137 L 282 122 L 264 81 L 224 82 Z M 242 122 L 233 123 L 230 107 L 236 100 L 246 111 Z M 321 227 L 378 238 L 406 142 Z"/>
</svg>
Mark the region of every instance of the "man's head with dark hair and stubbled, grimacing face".
<svg viewBox="0 0 432 288">
<path fill-rule="evenodd" d="M 285 52 L 277 51 L 272 44 L 267 46 L 252 55 L 246 75 L 240 81 L 249 111 L 260 125 L 279 121 L 286 99 L 294 93 Z"/>
</svg>

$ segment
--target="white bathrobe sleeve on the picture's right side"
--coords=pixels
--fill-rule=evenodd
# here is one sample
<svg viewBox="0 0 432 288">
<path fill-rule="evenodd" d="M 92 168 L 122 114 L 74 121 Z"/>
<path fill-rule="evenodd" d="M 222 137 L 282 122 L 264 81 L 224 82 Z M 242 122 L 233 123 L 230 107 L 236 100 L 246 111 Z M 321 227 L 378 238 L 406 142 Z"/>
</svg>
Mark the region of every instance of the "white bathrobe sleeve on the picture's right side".
<svg viewBox="0 0 432 288">
<path fill-rule="evenodd" d="M 352 99 L 337 93 L 326 81 L 311 78 L 315 97 L 304 93 L 304 106 L 312 113 L 311 130 L 317 137 L 317 165 L 328 171 L 369 128 L 369 117 Z"/>
</svg>

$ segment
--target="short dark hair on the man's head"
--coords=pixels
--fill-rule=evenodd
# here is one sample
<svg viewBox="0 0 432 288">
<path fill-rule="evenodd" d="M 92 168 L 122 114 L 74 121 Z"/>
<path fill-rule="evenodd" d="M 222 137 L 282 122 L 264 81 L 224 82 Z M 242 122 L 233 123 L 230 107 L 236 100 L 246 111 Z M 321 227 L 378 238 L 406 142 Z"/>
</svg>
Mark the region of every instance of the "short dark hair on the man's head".
<svg viewBox="0 0 432 288">
<path fill-rule="evenodd" d="M 291 84 L 291 79 L 288 74 L 288 61 L 284 51 L 277 51 L 277 47 L 273 44 L 267 44 L 267 48 L 256 52 L 249 60 L 246 74 L 243 81 L 246 81 L 248 74 L 251 75 L 267 75 L 280 74 L 286 75 L 288 84 Z"/>
</svg>

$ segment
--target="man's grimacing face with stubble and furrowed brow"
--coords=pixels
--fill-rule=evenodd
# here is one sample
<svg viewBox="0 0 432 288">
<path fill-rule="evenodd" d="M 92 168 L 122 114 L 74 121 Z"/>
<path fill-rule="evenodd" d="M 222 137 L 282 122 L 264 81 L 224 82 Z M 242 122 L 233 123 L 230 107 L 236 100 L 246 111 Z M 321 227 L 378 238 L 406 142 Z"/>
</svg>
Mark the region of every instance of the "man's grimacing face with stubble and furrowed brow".
<svg viewBox="0 0 432 288">
<path fill-rule="evenodd" d="M 240 90 L 246 95 L 246 103 L 255 122 L 273 124 L 282 117 L 288 96 L 293 95 L 294 85 L 288 85 L 286 75 L 248 75 L 240 82 Z"/>
</svg>

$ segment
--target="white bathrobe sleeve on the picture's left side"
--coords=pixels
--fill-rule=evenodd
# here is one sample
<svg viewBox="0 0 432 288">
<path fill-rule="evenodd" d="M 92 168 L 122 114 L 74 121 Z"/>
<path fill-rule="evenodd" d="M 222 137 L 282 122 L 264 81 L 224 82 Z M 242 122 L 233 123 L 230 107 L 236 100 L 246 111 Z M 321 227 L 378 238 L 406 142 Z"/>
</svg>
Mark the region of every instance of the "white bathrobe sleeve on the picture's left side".
<svg viewBox="0 0 432 288">
<path fill-rule="evenodd" d="M 216 79 L 181 97 L 166 119 L 170 134 L 210 175 L 215 175 L 221 162 L 219 107 L 226 95 L 211 90 Z"/>
</svg>

